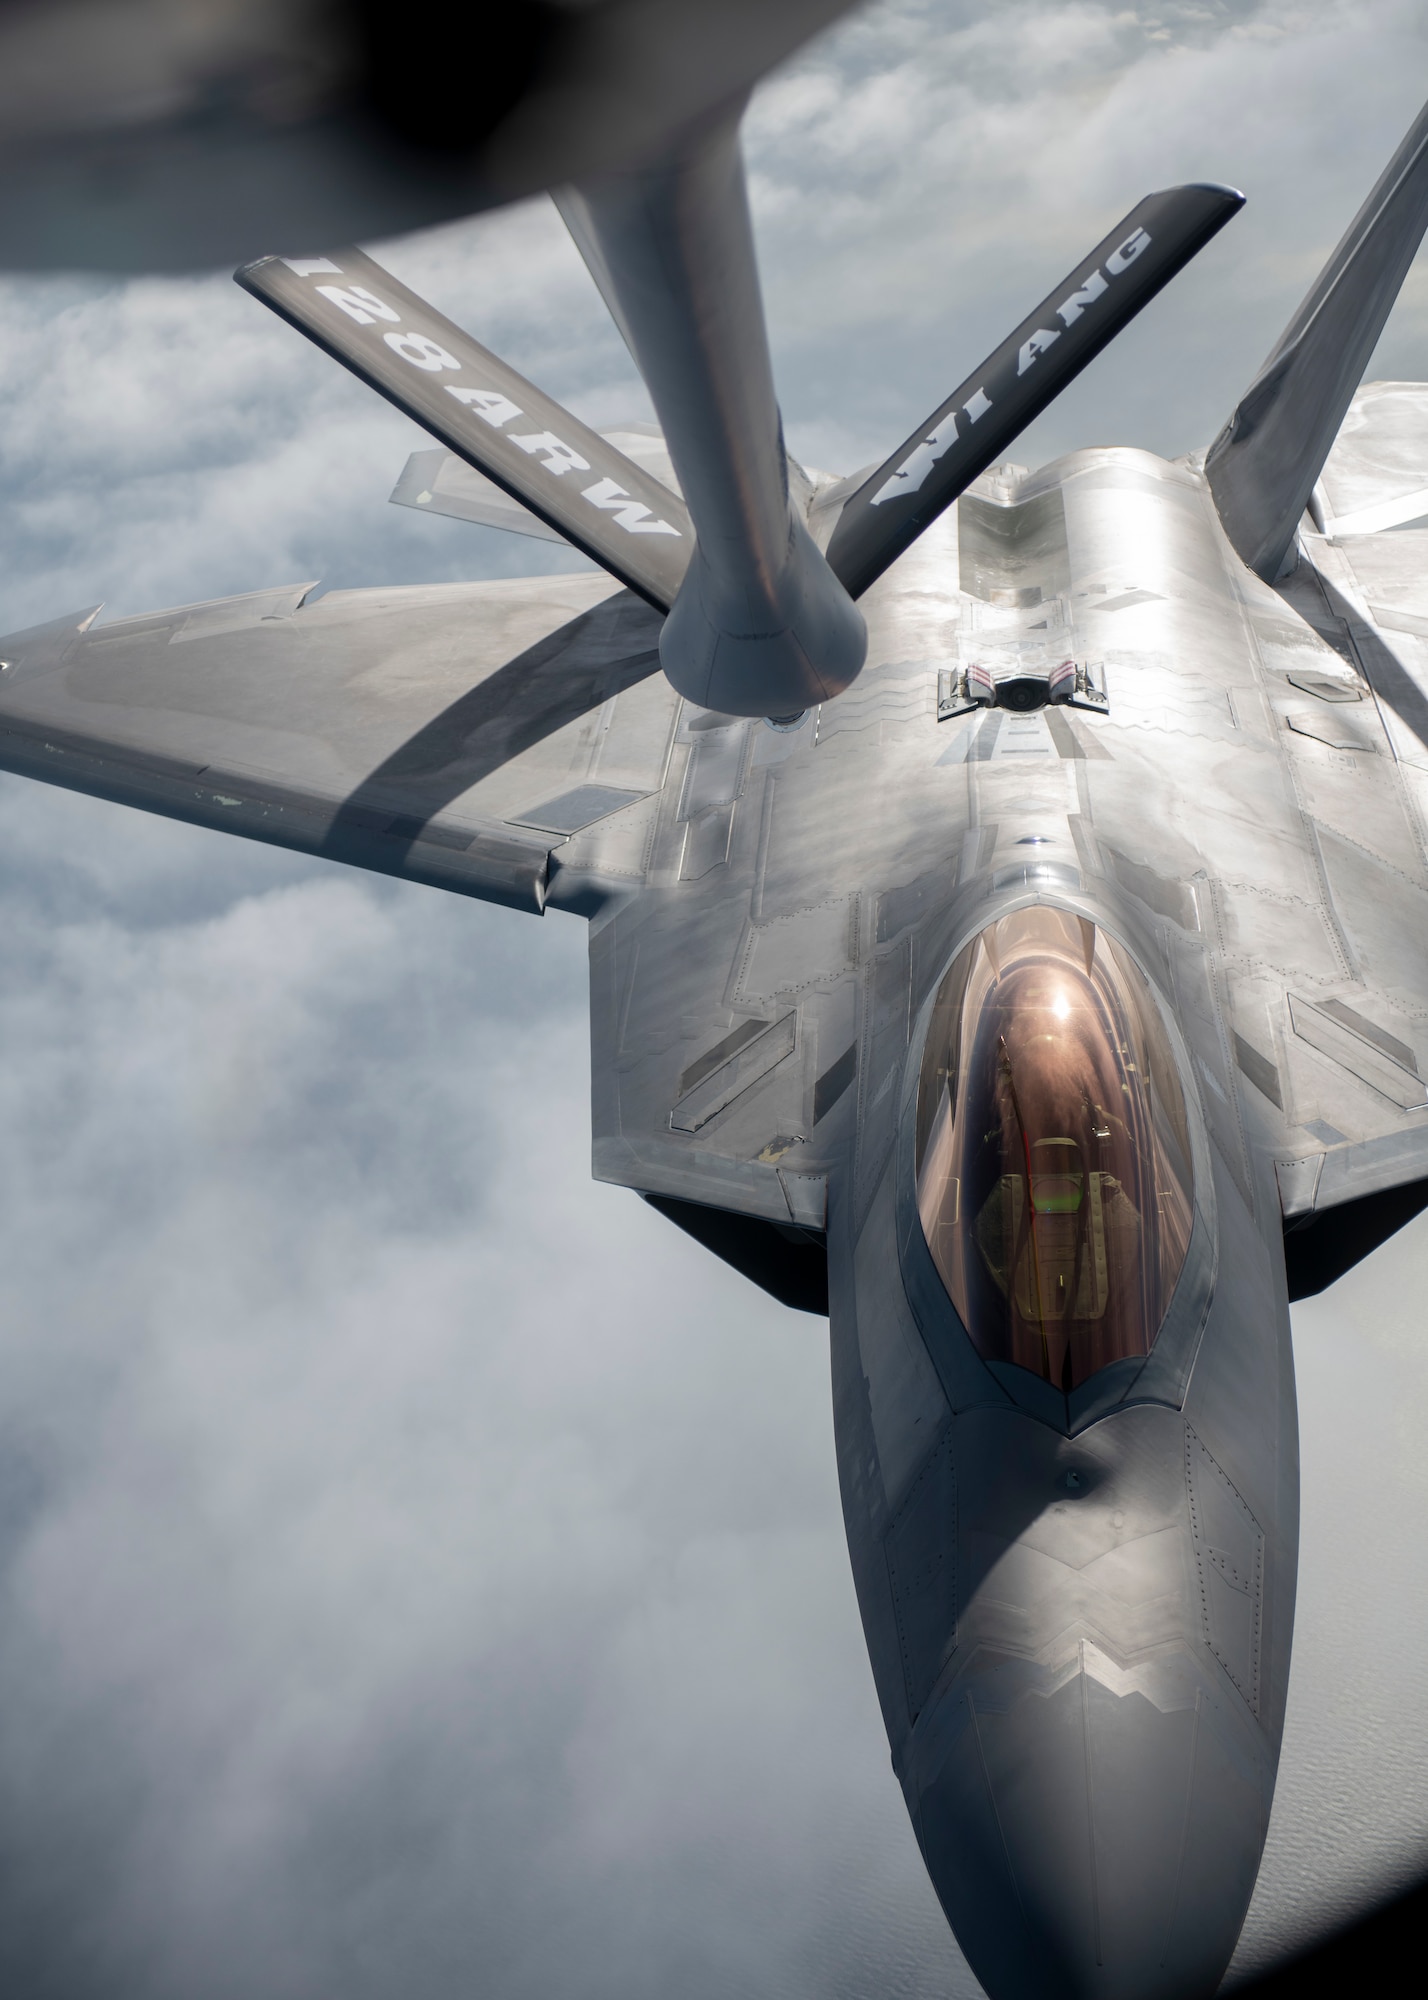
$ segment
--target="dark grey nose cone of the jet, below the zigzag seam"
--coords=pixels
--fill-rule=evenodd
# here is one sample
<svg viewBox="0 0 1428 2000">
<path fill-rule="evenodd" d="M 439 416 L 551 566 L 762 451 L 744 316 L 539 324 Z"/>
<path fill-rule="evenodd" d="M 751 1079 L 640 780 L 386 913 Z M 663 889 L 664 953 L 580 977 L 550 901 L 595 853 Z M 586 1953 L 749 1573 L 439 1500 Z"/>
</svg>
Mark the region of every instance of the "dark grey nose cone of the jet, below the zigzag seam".
<svg viewBox="0 0 1428 2000">
<path fill-rule="evenodd" d="M 1090 1644 L 1054 1688 L 1004 1662 L 946 1692 L 918 1836 L 994 2000 L 1214 1994 L 1272 1776 L 1232 1704 L 1186 1656 L 1124 1676 Z"/>
</svg>

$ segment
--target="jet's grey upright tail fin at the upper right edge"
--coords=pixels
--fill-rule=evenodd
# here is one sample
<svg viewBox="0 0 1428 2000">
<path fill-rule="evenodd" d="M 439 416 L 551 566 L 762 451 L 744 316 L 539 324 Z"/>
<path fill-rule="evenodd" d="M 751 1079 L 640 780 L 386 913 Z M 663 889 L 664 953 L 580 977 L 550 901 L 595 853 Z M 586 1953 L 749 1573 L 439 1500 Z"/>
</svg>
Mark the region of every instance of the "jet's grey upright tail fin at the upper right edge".
<svg viewBox="0 0 1428 2000">
<path fill-rule="evenodd" d="M 1290 552 L 1424 228 L 1428 106 L 1206 456 L 1224 532 L 1266 582 Z"/>
</svg>

